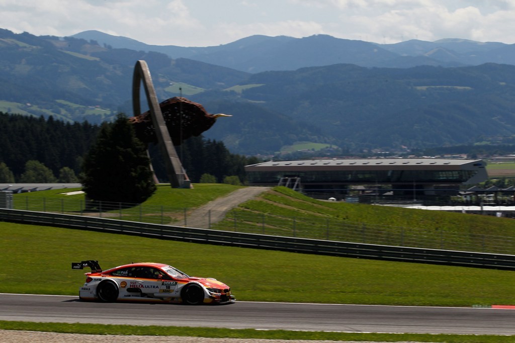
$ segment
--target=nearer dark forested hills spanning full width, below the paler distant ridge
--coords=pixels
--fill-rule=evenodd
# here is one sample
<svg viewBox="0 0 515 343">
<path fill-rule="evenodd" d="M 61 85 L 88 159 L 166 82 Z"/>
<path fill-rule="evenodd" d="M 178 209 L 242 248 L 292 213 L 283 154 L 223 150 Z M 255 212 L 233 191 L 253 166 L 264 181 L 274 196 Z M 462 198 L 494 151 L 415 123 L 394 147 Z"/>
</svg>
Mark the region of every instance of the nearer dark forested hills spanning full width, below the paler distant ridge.
<svg viewBox="0 0 515 343">
<path fill-rule="evenodd" d="M 334 64 L 249 74 L 8 30 L 0 30 L 0 53 L 0 111 L 92 124 L 119 112 L 130 116 L 133 66 L 142 59 L 161 101 L 182 94 L 209 113 L 231 114 L 204 135 L 246 155 L 300 143 L 330 144 L 349 155 L 409 153 L 515 135 L 515 65 Z"/>
</svg>

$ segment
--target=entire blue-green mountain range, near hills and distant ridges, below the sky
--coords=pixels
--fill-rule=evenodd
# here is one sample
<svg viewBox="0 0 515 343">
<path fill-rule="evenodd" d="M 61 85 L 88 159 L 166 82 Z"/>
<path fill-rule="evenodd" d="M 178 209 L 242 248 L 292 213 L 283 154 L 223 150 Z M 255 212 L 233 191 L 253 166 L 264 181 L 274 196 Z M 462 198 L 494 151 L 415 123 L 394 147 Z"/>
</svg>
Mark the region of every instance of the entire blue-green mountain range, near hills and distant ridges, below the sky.
<svg viewBox="0 0 515 343">
<path fill-rule="evenodd" d="M 0 29 L 0 111 L 90 123 L 130 115 L 133 67 L 145 60 L 160 100 L 182 95 L 233 115 L 204 133 L 233 153 L 299 142 L 349 153 L 498 142 L 515 135 L 513 47 L 323 35 L 159 47 L 97 31 Z"/>
</svg>

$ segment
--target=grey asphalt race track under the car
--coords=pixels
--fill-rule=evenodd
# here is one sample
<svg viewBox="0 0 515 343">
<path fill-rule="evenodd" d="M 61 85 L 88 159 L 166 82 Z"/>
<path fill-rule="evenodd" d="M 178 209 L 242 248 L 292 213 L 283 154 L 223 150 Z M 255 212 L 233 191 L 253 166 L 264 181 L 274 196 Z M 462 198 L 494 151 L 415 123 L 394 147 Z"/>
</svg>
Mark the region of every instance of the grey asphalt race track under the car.
<svg viewBox="0 0 515 343">
<path fill-rule="evenodd" d="M 261 330 L 515 334 L 515 310 L 236 302 L 221 306 L 95 303 L 72 296 L 0 294 L 0 320 Z"/>
</svg>

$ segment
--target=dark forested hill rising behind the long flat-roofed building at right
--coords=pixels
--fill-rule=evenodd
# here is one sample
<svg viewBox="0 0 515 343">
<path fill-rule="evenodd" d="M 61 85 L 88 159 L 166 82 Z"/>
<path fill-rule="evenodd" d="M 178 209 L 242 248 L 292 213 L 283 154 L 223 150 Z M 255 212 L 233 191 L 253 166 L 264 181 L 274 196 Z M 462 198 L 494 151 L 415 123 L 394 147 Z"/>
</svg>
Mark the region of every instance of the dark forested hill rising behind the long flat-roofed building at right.
<svg viewBox="0 0 515 343">
<path fill-rule="evenodd" d="M 409 149 L 515 134 L 515 66 L 363 68 L 252 75 L 245 98 L 324 130 L 340 146 Z"/>
</svg>

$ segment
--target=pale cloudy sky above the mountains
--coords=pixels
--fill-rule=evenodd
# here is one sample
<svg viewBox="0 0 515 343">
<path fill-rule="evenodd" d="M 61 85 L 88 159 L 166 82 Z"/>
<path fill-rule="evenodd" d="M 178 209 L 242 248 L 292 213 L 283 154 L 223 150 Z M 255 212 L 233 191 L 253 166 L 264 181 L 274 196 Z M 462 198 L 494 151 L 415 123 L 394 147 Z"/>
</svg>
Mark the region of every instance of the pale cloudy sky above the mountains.
<svg viewBox="0 0 515 343">
<path fill-rule="evenodd" d="M 515 43 L 515 0 L 0 0 L 0 12 L 0 28 L 15 33 L 99 30 L 157 45 L 316 34 L 376 43 Z"/>
</svg>

